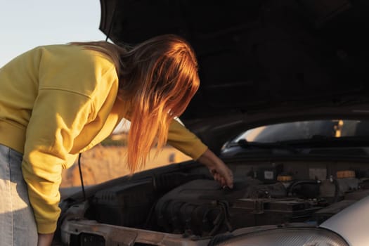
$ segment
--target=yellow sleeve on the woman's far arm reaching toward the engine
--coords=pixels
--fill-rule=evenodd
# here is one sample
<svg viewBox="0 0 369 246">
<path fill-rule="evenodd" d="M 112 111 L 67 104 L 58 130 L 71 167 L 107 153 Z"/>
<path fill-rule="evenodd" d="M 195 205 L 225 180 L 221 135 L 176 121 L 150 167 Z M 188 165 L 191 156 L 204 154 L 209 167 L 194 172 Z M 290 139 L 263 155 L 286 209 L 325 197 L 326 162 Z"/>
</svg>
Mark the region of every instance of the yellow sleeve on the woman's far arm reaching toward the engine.
<svg viewBox="0 0 369 246">
<path fill-rule="evenodd" d="M 182 153 L 192 157 L 193 160 L 198 160 L 198 157 L 207 150 L 207 145 L 202 143 L 200 138 L 175 119 L 171 121 L 169 126 L 168 143 Z"/>
</svg>

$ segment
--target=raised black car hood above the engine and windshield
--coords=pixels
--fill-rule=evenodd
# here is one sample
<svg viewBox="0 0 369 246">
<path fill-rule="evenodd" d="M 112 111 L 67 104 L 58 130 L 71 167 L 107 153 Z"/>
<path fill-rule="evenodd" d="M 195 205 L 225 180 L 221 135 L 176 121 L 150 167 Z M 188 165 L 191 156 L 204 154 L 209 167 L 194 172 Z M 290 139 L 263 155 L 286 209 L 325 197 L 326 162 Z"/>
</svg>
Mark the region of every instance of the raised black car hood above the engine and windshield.
<svg viewBox="0 0 369 246">
<path fill-rule="evenodd" d="M 190 41 L 201 85 L 187 124 L 367 102 L 368 12 L 349 0 L 101 0 L 100 30 L 116 44 L 166 33 Z"/>
</svg>

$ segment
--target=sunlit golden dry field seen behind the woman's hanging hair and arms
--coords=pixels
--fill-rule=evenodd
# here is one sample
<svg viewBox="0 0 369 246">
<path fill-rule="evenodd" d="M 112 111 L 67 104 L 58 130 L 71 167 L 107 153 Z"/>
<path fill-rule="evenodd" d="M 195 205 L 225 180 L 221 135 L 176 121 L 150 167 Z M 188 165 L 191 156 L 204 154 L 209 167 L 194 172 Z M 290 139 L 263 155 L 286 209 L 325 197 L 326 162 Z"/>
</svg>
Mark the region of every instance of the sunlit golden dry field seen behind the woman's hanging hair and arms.
<svg viewBox="0 0 369 246">
<path fill-rule="evenodd" d="M 165 147 L 156 158 L 153 158 L 155 150 L 152 150 L 151 159 L 145 169 L 190 160 L 190 157 L 171 147 Z M 91 186 L 129 174 L 124 163 L 124 155 L 126 153 L 126 147 L 124 146 L 103 145 L 97 145 L 91 150 L 82 153 L 81 165 L 84 185 Z M 81 186 L 78 165 L 76 163 L 70 169 L 63 170 L 63 181 L 60 187 L 68 188 L 75 186 Z"/>
</svg>

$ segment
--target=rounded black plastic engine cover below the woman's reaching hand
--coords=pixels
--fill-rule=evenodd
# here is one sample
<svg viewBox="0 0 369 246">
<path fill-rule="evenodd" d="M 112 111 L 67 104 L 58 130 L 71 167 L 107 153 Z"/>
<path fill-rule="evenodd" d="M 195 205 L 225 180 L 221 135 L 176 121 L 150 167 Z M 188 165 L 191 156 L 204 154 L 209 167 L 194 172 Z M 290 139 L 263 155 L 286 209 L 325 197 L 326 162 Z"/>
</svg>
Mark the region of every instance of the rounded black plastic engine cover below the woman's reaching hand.
<svg viewBox="0 0 369 246">
<path fill-rule="evenodd" d="M 190 181 L 160 198 L 155 206 L 157 224 L 166 232 L 196 235 L 214 235 L 227 225 L 231 229 L 228 200 L 243 197 L 245 187 L 231 192 L 216 181 Z"/>
</svg>

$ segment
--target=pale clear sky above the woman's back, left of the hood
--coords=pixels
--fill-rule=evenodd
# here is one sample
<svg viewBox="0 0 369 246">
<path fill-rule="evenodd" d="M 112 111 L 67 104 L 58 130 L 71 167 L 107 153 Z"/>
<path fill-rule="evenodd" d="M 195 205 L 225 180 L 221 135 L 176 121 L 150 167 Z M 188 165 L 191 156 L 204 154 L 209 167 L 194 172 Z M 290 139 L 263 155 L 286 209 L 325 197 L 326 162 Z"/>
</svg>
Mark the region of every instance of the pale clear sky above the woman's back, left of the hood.
<svg viewBox="0 0 369 246">
<path fill-rule="evenodd" d="M 0 0 L 0 67 L 44 44 L 105 40 L 99 0 Z"/>
</svg>

